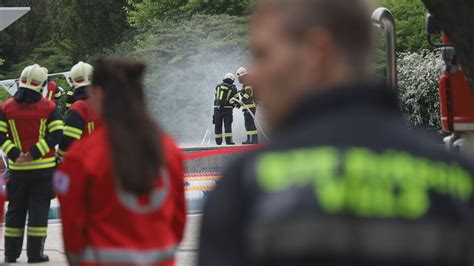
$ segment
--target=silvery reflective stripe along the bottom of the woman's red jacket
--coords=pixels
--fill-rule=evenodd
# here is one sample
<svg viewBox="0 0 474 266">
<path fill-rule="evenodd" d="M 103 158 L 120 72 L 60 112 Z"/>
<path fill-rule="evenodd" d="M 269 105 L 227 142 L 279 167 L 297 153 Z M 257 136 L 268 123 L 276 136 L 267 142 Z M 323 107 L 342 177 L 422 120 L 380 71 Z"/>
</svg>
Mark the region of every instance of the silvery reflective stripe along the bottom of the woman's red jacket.
<svg viewBox="0 0 474 266">
<path fill-rule="evenodd" d="M 172 259 L 177 251 L 176 246 L 140 251 L 125 248 L 98 248 L 87 246 L 79 260 L 86 264 L 106 265 L 158 265 Z M 68 254 L 71 257 L 71 254 Z M 72 256 L 73 258 L 75 256 Z M 78 259 L 77 257 L 74 259 Z"/>
</svg>

